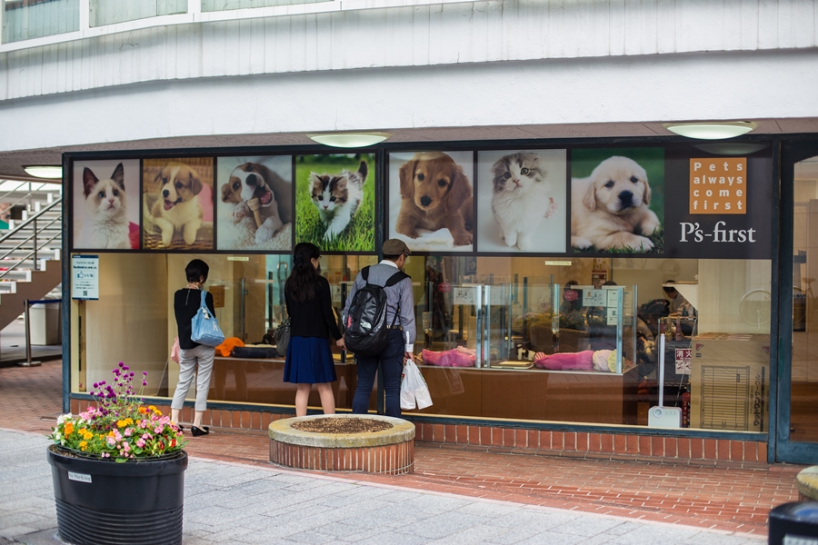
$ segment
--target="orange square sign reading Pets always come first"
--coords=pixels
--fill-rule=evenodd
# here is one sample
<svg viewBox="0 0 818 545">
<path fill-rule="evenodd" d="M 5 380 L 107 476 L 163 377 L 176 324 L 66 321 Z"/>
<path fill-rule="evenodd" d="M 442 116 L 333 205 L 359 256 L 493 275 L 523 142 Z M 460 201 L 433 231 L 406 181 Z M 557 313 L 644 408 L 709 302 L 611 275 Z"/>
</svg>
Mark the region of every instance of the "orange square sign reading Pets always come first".
<svg viewBox="0 0 818 545">
<path fill-rule="evenodd" d="M 747 213 L 747 159 L 690 160 L 690 213 Z"/>
</svg>

